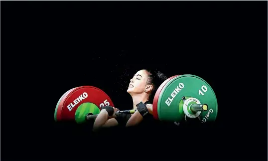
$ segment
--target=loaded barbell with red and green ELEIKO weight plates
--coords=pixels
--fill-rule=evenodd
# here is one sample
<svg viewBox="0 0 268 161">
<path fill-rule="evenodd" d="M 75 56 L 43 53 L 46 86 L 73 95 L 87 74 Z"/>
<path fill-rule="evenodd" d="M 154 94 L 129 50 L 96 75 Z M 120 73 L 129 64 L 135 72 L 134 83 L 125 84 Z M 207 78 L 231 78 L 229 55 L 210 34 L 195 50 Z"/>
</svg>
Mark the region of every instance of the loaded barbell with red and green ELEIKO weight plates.
<svg viewBox="0 0 268 161">
<path fill-rule="evenodd" d="M 152 104 L 153 117 L 160 121 L 180 122 L 188 117 L 199 118 L 202 123 L 214 122 L 218 113 L 217 98 L 211 86 L 204 79 L 190 74 L 166 79 L 157 89 Z M 84 123 L 96 118 L 101 108 L 107 105 L 115 107 L 101 89 L 93 86 L 76 87 L 59 99 L 54 119 Z"/>
</svg>

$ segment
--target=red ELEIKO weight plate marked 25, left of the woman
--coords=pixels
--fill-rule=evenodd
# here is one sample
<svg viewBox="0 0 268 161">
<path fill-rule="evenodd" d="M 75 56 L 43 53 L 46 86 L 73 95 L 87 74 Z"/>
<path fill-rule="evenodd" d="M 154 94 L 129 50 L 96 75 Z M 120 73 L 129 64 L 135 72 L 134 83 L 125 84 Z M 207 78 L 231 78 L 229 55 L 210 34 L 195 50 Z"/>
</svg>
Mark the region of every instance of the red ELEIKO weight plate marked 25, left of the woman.
<svg viewBox="0 0 268 161">
<path fill-rule="evenodd" d="M 76 109 L 83 103 L 90 102 L 101 109 L 102 106 L 114 104 L 110 97 L 101 89 L 93 86 L 82 86 L 72 90 L 65 99 L 62 99 L 60 117 L 61 120 L 75 120 Z"/>
</svg>

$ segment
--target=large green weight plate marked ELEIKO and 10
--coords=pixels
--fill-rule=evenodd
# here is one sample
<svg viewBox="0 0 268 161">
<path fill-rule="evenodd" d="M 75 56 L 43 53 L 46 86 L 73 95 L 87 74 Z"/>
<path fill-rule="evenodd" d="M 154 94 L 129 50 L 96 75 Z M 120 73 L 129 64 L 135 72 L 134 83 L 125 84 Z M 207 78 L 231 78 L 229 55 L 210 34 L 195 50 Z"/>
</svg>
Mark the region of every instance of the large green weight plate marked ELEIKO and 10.
<svg viewBox="0 0 268 161">
<path fill-rule="evenodd" d="M 213 89 L 204 79 L 188 74 L 173 78 L 161 90 L 157 102 L 159 120 L 181 121 L 185 117 L 183 96 L 186 97 L 185 99 L 195 98 L 201 104 L 208 105 L 207 111 L 199 112 L 202 122 L 215 121 L 218 113 L 218 103 Z M 188 104 L 192 104 L 191 101 Z M 194 115 L 196 112 L 191 114 Z"/>
</svg>

